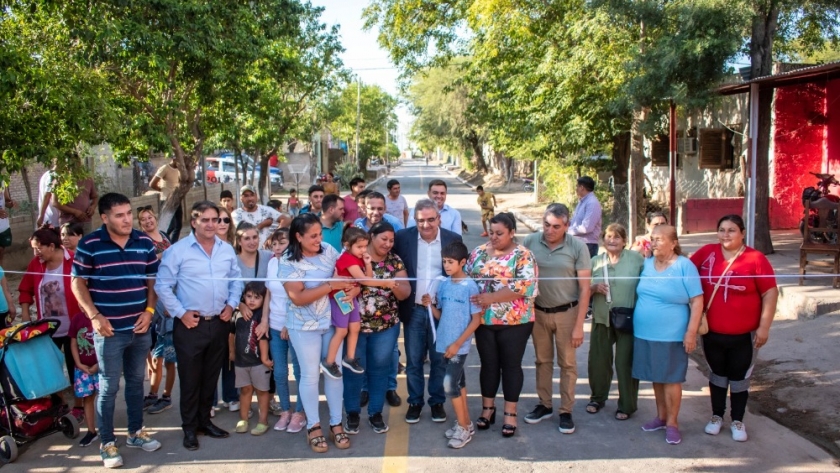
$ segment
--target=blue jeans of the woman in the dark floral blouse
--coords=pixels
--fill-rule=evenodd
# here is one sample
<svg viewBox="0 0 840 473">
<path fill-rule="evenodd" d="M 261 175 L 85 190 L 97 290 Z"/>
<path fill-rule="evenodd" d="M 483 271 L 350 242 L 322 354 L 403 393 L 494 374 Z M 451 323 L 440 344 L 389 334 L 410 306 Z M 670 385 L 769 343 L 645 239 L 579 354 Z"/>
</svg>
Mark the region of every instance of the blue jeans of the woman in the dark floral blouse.
<svg viewBox="0 0 840 473">
<path fill-rule="evenodd" d="M 389 388 L 389 377 L 394 361 L 394 343 L 400 335 L 397 324 L 381 332 L 360 333 L 356 345 L 356 358 L 365 368 L 364 374 L 350 370 L 344 372 L 344 410 L 359 413 L 359 397 L 362 384 L 367 380 L 370 401 L 368 415 L 379 414 L 385 404 L 385 391 Z"/>
</svg>

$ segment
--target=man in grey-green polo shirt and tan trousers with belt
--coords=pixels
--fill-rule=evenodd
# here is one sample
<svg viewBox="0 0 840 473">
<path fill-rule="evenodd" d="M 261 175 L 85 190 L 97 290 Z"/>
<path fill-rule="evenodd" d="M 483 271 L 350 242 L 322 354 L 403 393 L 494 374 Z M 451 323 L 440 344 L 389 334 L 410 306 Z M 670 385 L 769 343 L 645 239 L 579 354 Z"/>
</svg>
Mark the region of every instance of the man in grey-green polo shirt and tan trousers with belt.
<svg viewBox="0 0 840 473">
<path fill-rule="evenodd" d="M 586 243 L 568 234 L 568 229 L 569 208 L 563 204 L 550 204 L 543 214 L 543 231 L 528 235 L 523 243 L 533 253 L 540 277 L 532 334 L 540 403 L 525 416 L 525 422 L 536 424 L 551 417 L 556 347 L 560 367 L 559 430 L 564 434 L 575 431 L 572 420 L 577 383 L 575 350 L 583 344 L 583 322 L 589 306 L 592 274 Z"/>
</svg>

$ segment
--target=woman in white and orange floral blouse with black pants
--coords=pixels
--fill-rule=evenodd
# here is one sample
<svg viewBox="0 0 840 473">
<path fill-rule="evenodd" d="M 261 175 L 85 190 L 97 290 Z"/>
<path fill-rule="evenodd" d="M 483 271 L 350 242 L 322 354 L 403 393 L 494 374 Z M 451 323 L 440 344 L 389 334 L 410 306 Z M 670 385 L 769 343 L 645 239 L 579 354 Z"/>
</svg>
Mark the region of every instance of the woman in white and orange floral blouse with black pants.
<svg viewBox="0 0 840 473">
<path fill-rule="evenodd" d="M 490 241 L 474 249 L 464 270 L 481 293 L 473 302 L 484 309 L 475 332 L 481 359 L 479 383 L 482 411 L 476 421 L 488 429 L 496 419 L 499 383 L 505 399 L 502 435 L 516 433 L 516 404 L 522 392 L 522 356 L 534 327 L 537 264 L 527 248 L 516 243 L 516 220 L 509 213 L 490 219 Z"/>
</svg>

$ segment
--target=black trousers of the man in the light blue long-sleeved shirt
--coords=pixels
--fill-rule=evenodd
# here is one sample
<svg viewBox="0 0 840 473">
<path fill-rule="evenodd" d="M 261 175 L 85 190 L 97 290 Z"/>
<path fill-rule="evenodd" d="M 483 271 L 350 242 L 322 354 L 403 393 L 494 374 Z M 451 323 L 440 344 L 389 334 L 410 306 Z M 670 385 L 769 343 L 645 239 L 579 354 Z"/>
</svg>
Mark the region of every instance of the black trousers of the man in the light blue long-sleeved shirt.
<svg viewBox="0 0 840 473">
<path fill-rule="evenodd" d="M 181 386 L 181 427 L 195 431 L 210 424 L 213 391 L 219 382 L 222 362 L 228 357 L 230 324 L 215 317 L 199 320 L 188 329 L 181 319 L 175 322 L 172 341 L 178 358 Z"/>
</svg>

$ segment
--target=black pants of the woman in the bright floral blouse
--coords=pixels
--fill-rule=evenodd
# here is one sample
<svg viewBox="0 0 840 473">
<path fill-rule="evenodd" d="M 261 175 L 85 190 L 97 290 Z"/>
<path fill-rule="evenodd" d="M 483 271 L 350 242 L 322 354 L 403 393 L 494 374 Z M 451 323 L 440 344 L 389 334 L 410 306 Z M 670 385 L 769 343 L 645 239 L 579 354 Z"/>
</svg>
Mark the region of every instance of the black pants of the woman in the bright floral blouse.
<svg viewBox="0 0 840 473">
<path fill-rule="evenodd" d="M 533 329 L 533 323 L 478 326 L 475 345 L 481 360 L 479 383 L 482 397 L 496 397 L 501 382 L 505 401 L 519 402 L 525 379 L 522 357 Z"/>
</svg>

